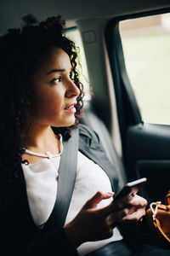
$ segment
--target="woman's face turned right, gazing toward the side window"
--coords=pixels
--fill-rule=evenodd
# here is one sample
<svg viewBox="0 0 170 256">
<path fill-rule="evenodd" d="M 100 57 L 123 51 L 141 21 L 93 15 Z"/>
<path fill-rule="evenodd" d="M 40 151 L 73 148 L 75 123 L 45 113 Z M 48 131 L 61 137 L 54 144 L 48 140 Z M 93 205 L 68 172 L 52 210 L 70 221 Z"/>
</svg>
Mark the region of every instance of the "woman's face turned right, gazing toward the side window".
<svg viewBox="0 0 170 256">
<path fill-rule="evenodd" d="M 73 125 L 80 90 L 70 78 L 69 55 L 63 49 L 53 48 L 48 58 L 39 63 L 33 76 L 33 122 L 55 127 Z"/>
</svg>

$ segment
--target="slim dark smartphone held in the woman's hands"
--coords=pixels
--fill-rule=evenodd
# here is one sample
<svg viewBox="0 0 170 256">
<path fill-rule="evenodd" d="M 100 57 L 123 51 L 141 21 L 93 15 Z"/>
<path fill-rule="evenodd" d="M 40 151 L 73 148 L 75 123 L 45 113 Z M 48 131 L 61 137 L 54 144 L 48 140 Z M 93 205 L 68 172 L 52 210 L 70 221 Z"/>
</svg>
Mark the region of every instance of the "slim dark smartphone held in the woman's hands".
<svg viewBox="0 0 170 256">
<path fill-rule="evenodd" d="M 114 197 L 114 202 L 122 197 L 127 197 L 127 200 L 130 201 L 134 195 L 139 192 L 139 189 L 146 183 L 147 178 L 142 177 L 133 182 L 127 183 L 120 192 Z"/>
</svg>

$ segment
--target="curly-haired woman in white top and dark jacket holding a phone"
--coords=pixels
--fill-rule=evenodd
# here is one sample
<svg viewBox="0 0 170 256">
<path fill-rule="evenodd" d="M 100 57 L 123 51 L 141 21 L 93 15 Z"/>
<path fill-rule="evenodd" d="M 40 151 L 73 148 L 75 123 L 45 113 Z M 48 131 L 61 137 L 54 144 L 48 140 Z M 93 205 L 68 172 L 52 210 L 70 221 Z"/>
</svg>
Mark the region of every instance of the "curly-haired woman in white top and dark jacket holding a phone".
<svg viewBox="0 0 170 256">
<path fill-rule="evenodd" d="M 65 200 L 58 190 L 62 139 L 69 143 L 77 129 L 83 96 L 76 47 L 64 26 L 60 17 L 48 18 L 0 38 L 1 248 L 4 255 L 112 255 L 105 253 L 109 244 L 116 255 L 129 255 L 116 226 L 139 221 L 146 201 L 135 195 L 112 203 L 114 167 L 83 125 L 65 224 L 50 225 L 56 194 Z"/>
</svg>

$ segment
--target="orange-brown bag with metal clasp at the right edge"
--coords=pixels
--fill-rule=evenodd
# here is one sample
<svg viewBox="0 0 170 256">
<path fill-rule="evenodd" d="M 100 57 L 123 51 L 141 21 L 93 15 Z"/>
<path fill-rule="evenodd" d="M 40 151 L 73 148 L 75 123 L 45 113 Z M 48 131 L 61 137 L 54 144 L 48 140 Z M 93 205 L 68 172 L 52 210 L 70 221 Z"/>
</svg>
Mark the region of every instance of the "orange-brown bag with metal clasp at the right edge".
<svg viewBox="0 0 170 256">
<path fill-rule="evenodd" d="M 146 211 L 146 219 L 162 244 L 170 247 L 170 190 L 167 192 L 165 205 L 160 201 L 150 204 Z"/>
</svg>

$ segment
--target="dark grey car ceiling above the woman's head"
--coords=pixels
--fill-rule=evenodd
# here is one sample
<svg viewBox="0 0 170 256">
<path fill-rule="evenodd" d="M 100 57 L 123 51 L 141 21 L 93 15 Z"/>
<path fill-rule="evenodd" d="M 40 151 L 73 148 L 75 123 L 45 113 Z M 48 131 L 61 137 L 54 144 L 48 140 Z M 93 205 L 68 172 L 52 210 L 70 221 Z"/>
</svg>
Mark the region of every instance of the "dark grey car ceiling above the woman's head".
<svg viewBox="0 0 170 256">
<path fill-rule="evenodd" d="M 94 18 L 110 19 L 151 9 L 170 7 L 169 0 L 1 0 L 0 34 L 8 28 L 20 26 L 20 15 L 31 13 L 41 21 L 48 16 L 62 15 L 67 26 L 75 26 L 76 20 Z"/>
</svg>

